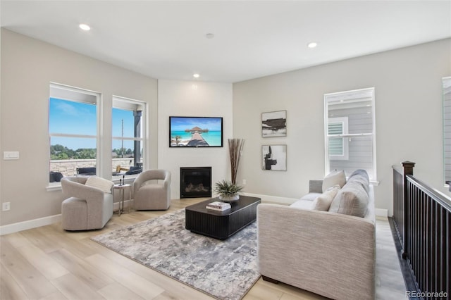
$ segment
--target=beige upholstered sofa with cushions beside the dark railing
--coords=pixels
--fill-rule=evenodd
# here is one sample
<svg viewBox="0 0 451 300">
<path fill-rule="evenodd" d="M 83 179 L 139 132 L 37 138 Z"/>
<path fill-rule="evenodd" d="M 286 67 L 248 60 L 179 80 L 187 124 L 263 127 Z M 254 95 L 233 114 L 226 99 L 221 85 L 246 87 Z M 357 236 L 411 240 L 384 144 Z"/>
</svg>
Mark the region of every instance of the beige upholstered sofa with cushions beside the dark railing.
<svg viewBox="0 0 451 300">
<path fill-rule="evenodd" d="M 340 188 L 325 182 L 311 180 L 309 194 L 291 206 L 257 207 L 260 273 L 331 299 L 374 299 L 373 186 L 363 170 Z M 324 210 L 321 197 L 330 211 L 316 210 Z"/>
</svg>

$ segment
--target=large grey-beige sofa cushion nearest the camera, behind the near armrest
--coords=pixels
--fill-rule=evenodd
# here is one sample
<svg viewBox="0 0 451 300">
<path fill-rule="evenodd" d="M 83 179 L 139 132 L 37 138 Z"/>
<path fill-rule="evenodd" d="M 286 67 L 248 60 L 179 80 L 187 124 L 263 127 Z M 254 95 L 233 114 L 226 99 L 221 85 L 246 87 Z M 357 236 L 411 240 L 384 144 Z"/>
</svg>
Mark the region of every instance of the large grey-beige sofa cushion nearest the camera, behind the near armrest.
<svg viewBox="0 0 451 300">
<path fill-rule="evenodd" d="M 347 182 L 333 199 L 329 211 L 363 218 L 368 208 L 368 202 L 368 193 L 359 182 Z"/>
</svg>

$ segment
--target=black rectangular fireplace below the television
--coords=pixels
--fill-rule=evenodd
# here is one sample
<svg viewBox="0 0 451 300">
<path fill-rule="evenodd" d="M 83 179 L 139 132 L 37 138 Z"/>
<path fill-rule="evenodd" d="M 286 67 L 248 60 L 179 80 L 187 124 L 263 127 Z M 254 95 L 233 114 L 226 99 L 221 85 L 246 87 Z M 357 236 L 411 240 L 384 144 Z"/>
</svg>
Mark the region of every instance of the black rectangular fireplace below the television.
<svg viewBox="0 0 451 300">
<path fill-rule="evenodd" d="M 211 167 L 180 168 L 180 198 L 211 197 Z"/>
</svg>

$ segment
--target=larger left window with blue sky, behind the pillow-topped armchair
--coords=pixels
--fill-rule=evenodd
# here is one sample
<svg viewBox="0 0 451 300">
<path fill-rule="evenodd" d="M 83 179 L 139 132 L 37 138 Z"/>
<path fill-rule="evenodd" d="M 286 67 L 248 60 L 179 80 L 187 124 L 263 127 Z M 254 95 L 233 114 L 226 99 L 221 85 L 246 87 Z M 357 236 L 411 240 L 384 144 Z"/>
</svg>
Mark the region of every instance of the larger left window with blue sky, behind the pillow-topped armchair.
<svg viewBox="0 0 451 300">
<path fill-rule="evenodd" d="M 50 177 L 96 174 L 99 165 L 99 94 L 51 83 L 49 97 Z"/>
</svg>

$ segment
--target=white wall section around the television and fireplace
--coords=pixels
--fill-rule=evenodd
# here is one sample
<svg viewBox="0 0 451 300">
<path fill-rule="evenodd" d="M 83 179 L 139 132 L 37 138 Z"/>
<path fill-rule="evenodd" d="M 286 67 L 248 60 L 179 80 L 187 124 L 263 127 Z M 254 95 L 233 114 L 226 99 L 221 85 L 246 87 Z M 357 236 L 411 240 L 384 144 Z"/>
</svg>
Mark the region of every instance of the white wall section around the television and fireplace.
<svg viewBox="0 0 451 300">
<path fill-rule="evenodd" d="M 197 85 L 193 89 L 192 85 Z M 230 180 L 228 139 L 233 136 L 232 85 L 158 81 L 158 166 L 172 174 L 171 198 L 180 198 L 180 167 L 211 166 L 211 182 Z M 169 148 L 169 116 L 223 117 L 222 148 Z"/>
</svg>

